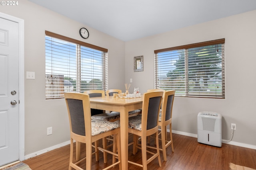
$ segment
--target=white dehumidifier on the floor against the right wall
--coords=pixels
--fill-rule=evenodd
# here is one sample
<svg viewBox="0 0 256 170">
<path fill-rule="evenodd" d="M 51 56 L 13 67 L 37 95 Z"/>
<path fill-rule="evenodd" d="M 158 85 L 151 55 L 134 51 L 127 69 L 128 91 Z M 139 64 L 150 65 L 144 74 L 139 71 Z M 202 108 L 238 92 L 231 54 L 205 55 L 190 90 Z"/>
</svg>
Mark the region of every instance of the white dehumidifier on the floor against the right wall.
<svg viewBox="0 0 256 170">
<path fill-rule="evenodd" d="M 197 115 L 197 141 L 207 145 L 222 145 L 222 115 L 203 111 Z"/>
</svg>

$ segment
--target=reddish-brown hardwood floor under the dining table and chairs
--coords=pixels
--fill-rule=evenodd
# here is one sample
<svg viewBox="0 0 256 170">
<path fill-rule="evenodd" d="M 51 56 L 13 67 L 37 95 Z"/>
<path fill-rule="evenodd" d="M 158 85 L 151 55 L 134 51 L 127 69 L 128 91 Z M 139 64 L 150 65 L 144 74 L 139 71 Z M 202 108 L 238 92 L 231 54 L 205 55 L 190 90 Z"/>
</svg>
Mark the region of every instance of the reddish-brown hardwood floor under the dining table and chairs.
<svg viewBox="0 0 256 170">
<path fill-rule="evenodd" d="M 222 144 L 222 147 L 213 147 L 197 142 L 197 138 L 173 134 L 174 152 L 167 148 L 167 161 L 162 161 L 162 167 L 158 166 L 155 159 L 148 164 L 148 170 L 229 170 L 229 163 L 247 166 L 256 169 L 256 150 L 234 145 Z M 154 144 L 154 139 L 151 140 Z M 85 145 L 81 145 L 81 158 L 85 156 Z M 52 150 L 34 158 L 24 160 L 32 170 L 68 170 L 70 145 Z M 161 158 L 162 152 L 160 151 Z M 75 154 L 74 154 L 75 155 Z M 74 156 L 75 158 L 75 156 Z M 103 154 L 100 153 L 103 159 Z M 103 160 L 95 161 L 92 156 L 92 170 L 101 170 L 112 162 L 112 156 L 108 155 L 108 163 Z M 132 154 L 132 146 L 129 147 L 129 160 L 141 163 L 140 150 L 136 155 Z M 85 164 L 83 164 L 85 168 Z M 142 168 L 128 164 L 129 170 L 142 170 Z M 118 166 L 110 168 L 118 170 Z"/>
</svg>

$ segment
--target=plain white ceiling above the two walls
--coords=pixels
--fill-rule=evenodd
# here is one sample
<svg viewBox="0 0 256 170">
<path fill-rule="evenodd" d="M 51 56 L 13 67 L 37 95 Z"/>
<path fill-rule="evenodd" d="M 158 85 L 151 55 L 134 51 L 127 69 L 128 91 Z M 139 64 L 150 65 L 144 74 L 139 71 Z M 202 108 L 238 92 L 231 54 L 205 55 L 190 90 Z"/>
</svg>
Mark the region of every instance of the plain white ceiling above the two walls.
<svg viewBox="0 0 256 170">
<path fill-rule="evenodd" d="M 256 10 L 256 0 L 30 1 L 122 41 Z"/>
</svg>

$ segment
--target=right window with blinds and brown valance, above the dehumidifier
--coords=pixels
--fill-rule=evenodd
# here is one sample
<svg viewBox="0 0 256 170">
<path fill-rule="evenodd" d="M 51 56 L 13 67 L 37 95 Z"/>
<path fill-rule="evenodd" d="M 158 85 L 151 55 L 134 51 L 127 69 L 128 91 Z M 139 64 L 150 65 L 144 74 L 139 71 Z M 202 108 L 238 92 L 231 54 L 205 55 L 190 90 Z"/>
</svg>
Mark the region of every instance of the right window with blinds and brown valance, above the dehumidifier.
<svg viewBox="0 0 256 170">
<path fill-rule="evenodd" d="M 154 51 L 155 88 L 176 96 L 225 98 L 225 39 Z"/>
</svg>

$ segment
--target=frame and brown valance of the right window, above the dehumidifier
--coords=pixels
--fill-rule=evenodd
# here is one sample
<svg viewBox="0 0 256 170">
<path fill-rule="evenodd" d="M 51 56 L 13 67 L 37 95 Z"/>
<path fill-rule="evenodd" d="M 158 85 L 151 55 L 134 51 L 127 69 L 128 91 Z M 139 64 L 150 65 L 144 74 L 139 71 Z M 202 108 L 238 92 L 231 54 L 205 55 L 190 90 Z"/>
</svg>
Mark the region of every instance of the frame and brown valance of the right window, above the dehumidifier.
<svg viewBox="0 0 256 170">
<path fill-rule="evenodd" d="M 189 44 L 189 45 L 181 45 L 181 46 L 177 46 L 177 47 L 170 47 L 170 48 L 166 48 L 166 49 L 158 49 L 158 50 L 154 50 L 154 88 L 160 88 L 159 87 L 159 76 L 158 76 L 158 54 L 160 53 L 164 53 L 164 52 L 171 52 L 171 51 L 176 51 L 176 50 L 188 50 L 188 49 L 192 49 L 192 48 L 198 48 L 198 47 L 206 47 L 209 45 L 220 45 L 222 44 L 221 47 L 223 47 L 222 49 L 222 53 L 221 53 L 221 63 L 222 63 L 222 94 L 221 95 L 200 95 L 199 92 L 197 95 L 191 95 L 188 92 L 189 89 L 189 80 L 188 80 L 188 53 L 186 53 L 184 59 L 184 64 L 185 64 L 185 94 L 184 95 L 180 95 L 180 94 L 175 94 L 175 96 L 181 96 L 181 97 L 199 97 L 199 98 L 225 98 L 225 39 L 217 39 L 217 40 L 213 40 L 213 41 L 206 41 L 206 42 L 201 42 L 201 43 L 193 43 L 193 44 Z M 220 47 L 220 46 L 218 46 Z M 175 88 L 172 88 L 173 90 L 176 90 Z M 171 89 L 164 89 L 164 90 L 171 90 Z"/>
</svg>

